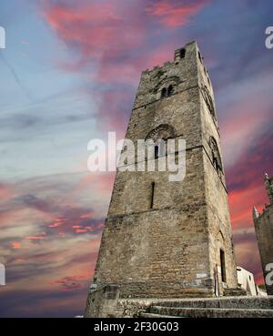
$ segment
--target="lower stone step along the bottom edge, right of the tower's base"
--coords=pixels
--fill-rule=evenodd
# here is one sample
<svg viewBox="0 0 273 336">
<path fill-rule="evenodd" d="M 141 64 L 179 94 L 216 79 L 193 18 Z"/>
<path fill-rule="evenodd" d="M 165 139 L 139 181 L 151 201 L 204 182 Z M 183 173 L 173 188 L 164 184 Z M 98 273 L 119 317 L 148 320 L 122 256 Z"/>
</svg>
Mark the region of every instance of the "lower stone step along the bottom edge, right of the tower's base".
<svg viewBox="0 0 273 336">
<path fill-rule="evenodd" d="M 153 306 L 150 314 L 187 318 L 273 318 L 273 310 L 222 309 L 222 308 L 181 308 Z M 159 317 L 159 316 L 158 316 Z"/>
</svg>

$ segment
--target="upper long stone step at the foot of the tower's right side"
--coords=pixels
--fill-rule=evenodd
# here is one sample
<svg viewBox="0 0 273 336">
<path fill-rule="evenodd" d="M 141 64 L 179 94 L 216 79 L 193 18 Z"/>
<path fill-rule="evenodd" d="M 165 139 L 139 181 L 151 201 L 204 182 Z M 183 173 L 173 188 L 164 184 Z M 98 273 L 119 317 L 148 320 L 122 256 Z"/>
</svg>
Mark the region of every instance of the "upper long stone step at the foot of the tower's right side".
<svg viewBox="0 0 273 336">
<path fill-rule="evenodd" d="M 221 297 L 207 299 L 157 300 L 154 306 L 179 308 L 227 308 L 273 310 L 273 296 Z"/>
</svg>

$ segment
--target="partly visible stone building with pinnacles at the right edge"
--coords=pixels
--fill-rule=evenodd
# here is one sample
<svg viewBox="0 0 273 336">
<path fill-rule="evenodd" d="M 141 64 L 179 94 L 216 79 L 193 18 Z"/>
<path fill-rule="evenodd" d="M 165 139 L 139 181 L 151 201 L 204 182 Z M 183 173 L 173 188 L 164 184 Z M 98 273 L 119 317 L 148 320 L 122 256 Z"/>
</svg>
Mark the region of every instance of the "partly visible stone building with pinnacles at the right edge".
<svg viewBox="0 0 273 336">
<path fill-rule="evenodd" d="M 262 213 L 258 213 L 254 207 L 253 220 L 266 288 L 268 295 L 273 295 L 273 176 L 268 177 L 266 174 L 265 187 L 270 204 L 266 205 Z"/>
</svg>

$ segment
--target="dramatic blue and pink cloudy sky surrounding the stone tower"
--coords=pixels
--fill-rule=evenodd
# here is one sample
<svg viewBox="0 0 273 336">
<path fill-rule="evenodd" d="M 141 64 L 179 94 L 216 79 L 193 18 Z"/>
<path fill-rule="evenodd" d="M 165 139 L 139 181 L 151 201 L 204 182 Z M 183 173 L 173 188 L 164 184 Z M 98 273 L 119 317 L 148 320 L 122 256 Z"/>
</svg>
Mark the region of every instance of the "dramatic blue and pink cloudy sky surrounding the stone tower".
<svg viewBox="0 0 273 336">
<path fill-rule="evenodd" d="M 217 98 L 238 264 L 261 283 L 251 219 L 273 172 L 273 4 L 254 0 L 2 0 L 0 316 L 86 303 L 113 185 L 87 142 L 123 137 L 142 70 L 196 39 Z"/>
</svg>

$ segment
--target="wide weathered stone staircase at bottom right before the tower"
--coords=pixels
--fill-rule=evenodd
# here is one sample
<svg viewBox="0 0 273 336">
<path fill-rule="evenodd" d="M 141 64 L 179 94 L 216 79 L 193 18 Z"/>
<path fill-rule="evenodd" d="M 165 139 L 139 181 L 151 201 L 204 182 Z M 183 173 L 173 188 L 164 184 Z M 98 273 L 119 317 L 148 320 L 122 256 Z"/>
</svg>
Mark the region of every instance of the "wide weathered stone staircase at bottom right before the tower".
<svg viewBox="0 0 273 336">
<path fill-rule="evenodd" d="M 143 318 L 273 318 L 273 296 L 162 300 L 152 303 Z"/>
</svg>

